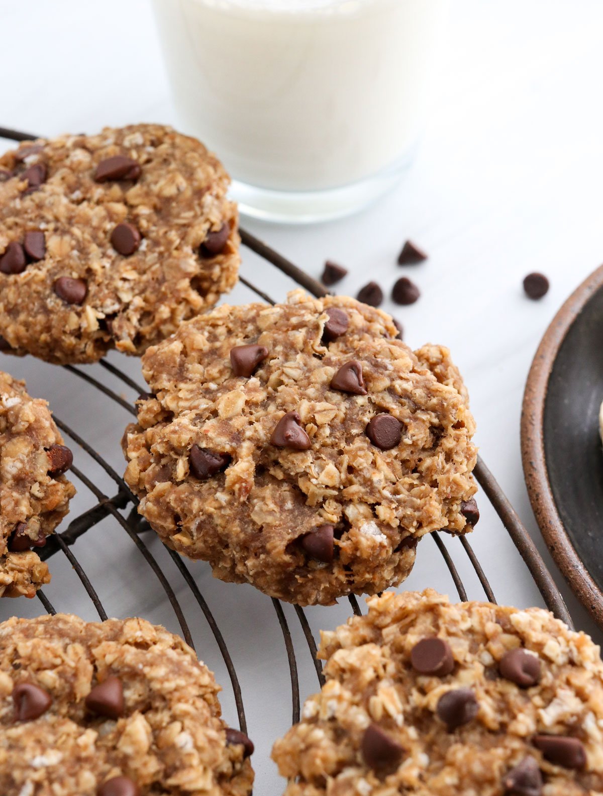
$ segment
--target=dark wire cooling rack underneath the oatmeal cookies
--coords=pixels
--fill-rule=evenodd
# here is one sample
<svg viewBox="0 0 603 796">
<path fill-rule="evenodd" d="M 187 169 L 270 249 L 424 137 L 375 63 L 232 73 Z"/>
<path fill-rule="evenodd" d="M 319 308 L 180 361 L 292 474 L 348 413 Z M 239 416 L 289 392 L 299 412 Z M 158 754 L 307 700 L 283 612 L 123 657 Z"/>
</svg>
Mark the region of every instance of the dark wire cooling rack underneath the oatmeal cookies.
<svg viewBox="0 0 603 796">
<path fill-rule="evenodd" d="M 0 138 L 11 139 L 14 141 L 24 141 L 33 139 L 35 136 L 0 127 Z M 249 232 L 246 232 L 244 229 L 240 230 L 240 234 L 243 247 L 255 252 L 257 256 L 263 258 L 267 263 L 270 263 L 273 267 L 278 269 L 278 271 L 282 271 L 283 274 L 288 276 L 290 279 L 293 279 L 294 282 L 299 286 L 304 287 L 306 291 L 309 291 L 309 293 L 314 296 L 322 296 L 327 293 L 326 288 L 321 283 L 317 282 L 316 279 L 313 279 L 306 274 L 305 271 L 302 271 L 300 268 L 295 266 L 294 263 L 291 263 L 288 259 L 278 254 L 278 252 L 275 252 L 261 240 L 258 240 L 255 236 L 251 235 Z M 259 298 L 262 298 L 263 301 L 274 303 L 274 298 L 271 298 L 270 295 L 267 295 L 266 292 L 257 287 L 253 281 L 248 278 L 245 263 L 243 263 L 242 273 L 239 276 L 239 279 L 241 283 L 258 295 Z M 130 399 L 115 392 L 114 389 L 103 383 L 103 380 L 92 376 L 91 373 L 88 372 L 88 366 L 80 366 L 76 368 L 72 365 L 65 365 L 64 371 L 69 374 L 69 378 L 75 380 L 84 380 L 91 385 L 91 387 L 95 388 L 99 392 L 99 399 L 114 401 L 116 404 L 119 404 L 119 406 L 123 407 L 126 412 L 130 412 L 131 415 L 136 416 L 134 401 L 141 392 L 145 391 L 146 388 L 142 384 L 137 384 L 136 381 L 130 378 L 130 376 L 126 375 L 126 373 L 123 373 L 121 369 L 109 361 L 102 360 L 100 361 L 99 365 L 101 365 L 105 373 L 111 374 L 111 377 L 115 377 L 115 379 L 119 380 L 119 382 L 123 385 L 123 388 L 130 392 Z M 169 600 L 169 604 L 172 607 L 173 613 L 177 618 L 177 622 L 181 627 L 181 632 L 185 638 L 185 641 L 194 648 L 193 634 L 189 629 L 189 623 L 185 617 L 185 611 L 181 606 L 181 601 L 177 599 L 177 587 L 172 581 L 170 581 L 169 577 L 164 572 L 164 568 L 159 564 L 157 557 L 150 550 L 150 540 L 154 539 L 155 535 L 153 533 L 146 533 L 150 531 L 150 527 L 146 521 L 138 516 L 136 510 L 138 503 L 137 497 L 130 492 L 126 482 L 123 481 L 123 478 L 106 461 L 106 459 L 103 458 L 103 456 L 99 455 L 99 453 L 95 451 L 95 448 L 88 443 L 86 439 L 69 427 L 67 423 L 64 423 L 64 421 L 61 420 L 60 417 L 57 417 L 56 414 L 54 415 L 54 419 L 64 435 L 71 439 L 72 443 L 76 443 L 76 446 L 80 448 L 80 451 L 78 451 L 77 447 L 71 446 L 74 451 L 75 464 L 72 466 L 70 473 L 76 478 L 77 481 L 80 482 L 81 486 L 84 486 L 84 489 L 88 491 L 88 494 L 91 497 L 91 505 L 88 509 L 84 510 L 83 513 L 80 513 L 76 517 L 70 518 L 68 527 L 64 531 L 55 533 L 53 536 L 48 538 L 45 548 L 41 548 L 39 551 L 41 558 L 43 560 L 48 560 L 57 554 L 65 556 L 68 560 L 68 563 L 76 572 L 76 576 L 80 579 L 80 582 L 88 594 L 88 597 L 91 599 L 99 618 L 101 620 L 106 619 L 107 611 L 103 606 L 102 599 L 99 597 L 99 591 L 97 590 L 95 584 L 91 582 L 91 578 L 88 577 L 87 572 L 80 564 L 80 561 L 78 560 L 74 551 L 76 547 L 79 547 L 81 544 L 85 544 L 87 534 L 91 531 L 91 529 L 94 529 L 95 526 L 99 525 L 99 523 L 105 518 L 112 517 L 115 522 L 119 523 L 127 536 L 130 537 L 132 544 L 138 548 L 138 552 L 153 571 L 154 576 L 158 579 L 161 589 L 165 592 L 165 596 Z M 104 471 L 104 473 L 107 474 L 110 481 L 115 485 L 114 494 L 111 496 L 104 494 L 104 491 L 99 489 L 99 486 L 96 485 L 95 479 L 89 477 L 84 473 L 83 470 L 80 469 L 80 466 L 78 466 L 80 458 L 84 458 L 80 455 L 81 451 L 84 451 L 86 454 L 88 454 L 88 456 L 91 457 L 94 462 L 96 462 L 96 464 Z M 550 611 L 553 611 L 554 615 L 558 616 L 558 618 L 561 618 L 568 625 L 572 626 L 571 618 L 567 611 L 566 605 L 563 602 L 562 595 L 555 586 L 554 580 L 544 564 L 538 550 L 536 549 L 535 544 L 531 540 L 527 530 L 523 527 L 511 503 L 500 489 L 496 479 L 493 477 L 490 470 L 488 470 L 488 467 L 485 466 L 481 458 L 478 458 L 477 467 L 474 472 L 477 482 L 483 490 L 483 493 L 492 503 L 493 508 L 496 510 L 496 513 L 500 517 L 500 520 L 515 544 L 515 548 L 517 548 L 519 554 L 522 556 L 523 561 L 525 562 L 531 577 L 534 579 L 540 594 L 543 596 L 543 600 L 547 607 L 550 609 Z M 452 577 L 453 583 L 457 589 L 459 599 L 468 599 L 465 585 L 461 580 L 461 576 L 459 576 L 459 573 L 457 572 L 457 568 L 453 563 L 453 558 L 449 553 L 447 545 L 442 540 L 442 536 L 439 533 L 431 533 L 430 538 L 433 540 L 434 544 L 437 545 L 439 552 L 442 554 L 445 566 L 448 568 L 450 576 Z M 424 542 L 423 544 L 427 543 Z M 466 537 L 457 537 L 453 540 L 450 540 L 449 544 L 461 545 L 463 553 L 468 556 L 470 564 L 477 575 L 477 579 L 479 579 L 485 597 L 492 603 L 496 602 L 492 587 L 488 582 L 488 578 L 485 575 L 480 561 L 473 552 L 471 544 L 469 544 L 469 540 L 467 540 Z M 236 711 L 239 716 L 240 728 L 243 730 L 243 732 L 247 732 L 247 721 L 243 708 L 243 696 L 241 686 L 239 685 L 239 676 L 236 672 L 235 665 L 228 650 L 228 645 L 224 638 L 224 634 L 220 630 L 220 626 L 218 626 L 218 622 L 216 622 L 216 618 L 206 602 L 206 599 L 204 599 L 204 595 L 201 593 L 200 587 L 197 585 L 196 579 L 193 578 L 193 574 L 190 572 L 189 566 L 185 563 L 185 560 L 183 560 L 176 552 L 169 550 L 169 548 L 165 549 L 173 560 L 173 564 L 175 564 L 177 570 L 180 572 L 182 579 L 184 579 L 184 582 L 189 587 L 190 594 L 193 596 L 196 605 L 202 612 L 204 619 L 216 640 L 216 644 L 220 649 L 220 654 L 224 658 L 224 665 L 226 669 L 228 669 Z M 181 586 L 181 584 L 179 584 L 179 586 Z M 38 591 L 37 598 L 40 599 L 45 611 L 49 612 L 50 614 L 56 613 L 55 607 L 43 591 Z M 472 595 L 472 598 L 482 599 L 482 596 Z M 268 599 L 269 598 L 266 598 L 266 600 Z M 354 614 L 360 615 L 360 607 L 356 597 L 354 595 L 350 595 L 348 599 Z M 294 641 L 285 611 L 283 611 L 281 603 L 279 603 L 279 601 L 276 599 L 272 599 L 272 605 L 282 630 L 282 638 L 286 648 L 286 657 L 290 671 L 292 713 L 293 720 L 296 722 L 299 720 L 300 712 L 298 659 L 296 657 Z M 16 610 L 18 610 L 18 607 Z M 305 641 L 307 642 L 309 653 L 312 656 L 313 666 L 316 671 L 318 682 L 322 685 L 323 675 L 321 671 L 321 661 L 317 661 L 317 646 L 315 639 L 313 638 L 313 633 L 310 629 L 305 611 L 298 606 L 294 607 L 294 611 L 298 617 L 298 621 L 300 622 L 301 631 L 305 637 Z"/>
</svg>

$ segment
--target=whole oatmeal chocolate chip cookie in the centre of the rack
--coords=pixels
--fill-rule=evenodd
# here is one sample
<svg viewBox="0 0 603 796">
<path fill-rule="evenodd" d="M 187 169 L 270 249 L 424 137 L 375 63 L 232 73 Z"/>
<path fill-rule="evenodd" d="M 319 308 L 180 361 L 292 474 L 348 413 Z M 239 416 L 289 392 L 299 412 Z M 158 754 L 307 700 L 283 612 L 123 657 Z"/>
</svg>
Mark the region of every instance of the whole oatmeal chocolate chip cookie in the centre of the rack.
<svg viewBox="0 0 603 796">
<path fill-rule="evenodd" d="M 447 349 L 352 298 L 221 306 L 142 360 L 126 482 L 162 540 L 294 603 L 403 580 L 469 529 L 473 417 Z"/>
</svg>

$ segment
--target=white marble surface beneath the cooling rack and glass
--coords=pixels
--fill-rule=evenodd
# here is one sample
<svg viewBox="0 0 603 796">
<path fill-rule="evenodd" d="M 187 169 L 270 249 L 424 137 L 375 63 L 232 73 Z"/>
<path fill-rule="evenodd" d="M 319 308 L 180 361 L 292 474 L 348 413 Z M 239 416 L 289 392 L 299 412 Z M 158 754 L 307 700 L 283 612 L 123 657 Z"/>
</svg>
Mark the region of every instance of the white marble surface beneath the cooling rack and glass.
<svg viewBox="0 0 603 796">
<path fill-rule="evenodd" d="M 395 256 L 407 237 L 426 248 L 429 261 L 411 273 L 422 298 L 408 308 L 395 309 L 389 301 L 384 307 L 395 309 L 410 345 L 438 341 L 453 350 L 471 392 L 481 455 L 541 550 L 523 484 L 519 412 L 543 331 L 603 256 L 601 25 L 603 6 L 597 0 L 457 0 L 430 126 L 398 189 L 372 209 L 333 224 L 278 228 L 244 222 L 314 275 L 325 257 L 346 264 L 350 275 L 340 288 L 351 295 L 368 278 L 391 287 L 400 275 Z M 0 0 L 0 31 L 0 124 L 53 135 L 140 120 L 177 123 L 145 0 Z M 541 302 L 528 301 L 521 290 L 523 275 L 535 270 L 546 272 L 552 283 Z M 243 273 L 273 295 L 284 295 L 288 287 L 286 279 L 274 278 L 247 254 Z M 232 299 L 248 296 L 239 287 Z M 139 377 L 137 361 L 111 358 Z M 31 358 L 4 357 L 0 367 L 26 377 L 30 392 L 47 397 L 57 416 L 123 470 L 119 438 L 128 421 L 123 409 Z M 77 449 L 76 462 L 103 489 L 112 489 Z M 92 503 L 86 488 L 78 487 L 74 510 Z M 539 603 L 485 498 L 480 508 L 482 519 L 471 542 L 497 597 L 520 606 Z M 158 544 L 151 547 L 165 560 Z M 449 547 L 469 595 L 479 599 L 460 545 Z M 115 521 L 99 525 L 75 552 L 110 614 L 138 612 L 177 630 L 156 579 Z M 52 568 L 46 592 L 56 607 L 94 618 L 64 560 L 56 556 Z M 268 750 L 290 722 L 288 670 L 276 615 L 270 601 L 251 587 L 218 583 L 204 564 L 190 568 L 223 627 L 241 677 L 250 733 L 258 743 L 256 792 L 275 796 L 281 784 Z M 171 562 L 166 571 L 182 597 L 200 657 L 224 684 L 224 711 L 234 723 L 216 644 Z M 578 626 L 601 639 L 554 565 L 553 571 Z M 453 592 L 430 540 L 419 547 L 417 568 L 407 581 L 408 587 L 428 585 Z M 2 603 L 0 618 L 14 611 L 34 615 L 40 604 Z M 286 615 L 298 647 L 303 696 L 316 681 L 294 611 L 287 608 Z M 317 631 L 340 622 L 348 605 L 308 615 Z"/>
</svg>

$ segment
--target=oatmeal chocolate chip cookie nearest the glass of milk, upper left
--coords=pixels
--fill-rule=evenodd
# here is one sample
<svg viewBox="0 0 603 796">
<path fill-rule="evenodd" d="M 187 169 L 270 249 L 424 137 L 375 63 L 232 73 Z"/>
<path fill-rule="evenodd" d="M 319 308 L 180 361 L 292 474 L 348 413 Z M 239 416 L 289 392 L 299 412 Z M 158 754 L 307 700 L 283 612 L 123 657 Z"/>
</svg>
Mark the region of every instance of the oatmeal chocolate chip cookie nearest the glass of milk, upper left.
<svg viewBox="0 0 603 796">
<path fill-rule="evenodd" d="M 49 362 L 130 354 L 233 287 L 228 175 L 157 124 L 25 142 L 0 157 L 0 335 Z"/>
</svg>

